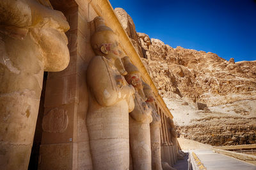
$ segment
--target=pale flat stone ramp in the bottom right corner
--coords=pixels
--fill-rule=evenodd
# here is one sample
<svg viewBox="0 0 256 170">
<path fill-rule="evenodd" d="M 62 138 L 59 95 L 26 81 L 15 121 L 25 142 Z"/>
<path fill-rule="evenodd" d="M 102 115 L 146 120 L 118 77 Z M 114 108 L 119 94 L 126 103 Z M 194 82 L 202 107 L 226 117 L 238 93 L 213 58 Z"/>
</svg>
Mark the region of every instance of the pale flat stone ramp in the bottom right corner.
<svg viewBox="0 0 256 170">
<path fill-rule="evenodd" d="M 191 150 L 190 153 L 192 152 L 196 154 L 207 170 L 256 170 L 256 166 L 253 164 L 220 153 L 214 153 L 212 150 Z M 192 159 L 192 154 L 189 154 L 189 157 Z"/>
</svg>

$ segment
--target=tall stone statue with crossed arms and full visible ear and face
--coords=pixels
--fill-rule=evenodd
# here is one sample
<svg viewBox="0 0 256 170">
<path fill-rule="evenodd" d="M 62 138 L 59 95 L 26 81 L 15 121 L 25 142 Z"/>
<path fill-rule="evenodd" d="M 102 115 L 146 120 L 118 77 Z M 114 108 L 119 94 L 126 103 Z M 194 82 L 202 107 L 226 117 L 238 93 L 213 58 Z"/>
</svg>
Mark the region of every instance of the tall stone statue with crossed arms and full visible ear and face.
<svg viewBox="0 0 256 170">
<path fill-rule="evenodd" d="M 90 138 L 93 169 L 129 169 L 129 112 L 134 109 L 134 88 L 122 74 L 115 33 L 94 19 L 91 38 L 93 57 L 87 69 L 90 104 L 86 125 Z"/>
</svg>

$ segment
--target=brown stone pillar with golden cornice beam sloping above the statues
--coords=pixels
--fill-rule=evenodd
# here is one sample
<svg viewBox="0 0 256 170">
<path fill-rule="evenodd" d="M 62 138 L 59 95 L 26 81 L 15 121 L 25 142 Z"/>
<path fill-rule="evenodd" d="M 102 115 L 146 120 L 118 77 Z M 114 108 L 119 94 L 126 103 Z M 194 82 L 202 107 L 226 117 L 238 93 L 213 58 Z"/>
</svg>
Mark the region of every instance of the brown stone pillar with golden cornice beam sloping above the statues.
<svg viewBox="0 0 256 170">
<path fill-rule="evenodd" d="M 77 0 L 70 5 L 71 8 L 63 8 L 60 1 L 52 0 L 51 3 L 65 14 L 70 24 L 67 32 L 70 63 L 62 72 L 49 72 L 47 77 L 42 123 L 45 128 L 40 146 L 39 169 L 92 169 L 85 121 L 88 108 L 86 68 L 90 59 L 95 56 L 90 45 L 90 36 L 95 29 L 92 20 L 96 16 L 104 17 L 106 24 L 115 31 L 124 54 L 131 56 L 134 65 L 142 70 L 145 81 L 150 82 L 151 79 L 140 58 L 134 56 L 136 51 L 134 53 L 133 46 L 129 44 L 131 42 L 125 40 L 124 36 L 127 35 L 122 26 L 116 24 L 118 20 L 108 1 Z M 152 82 L 149 84 L 154 86 Z M 152 89 L 156 93 L 156 87 Z M 171 117 L 172 114 L 167 112 L 163 99 L 158 94 L 156 98 L 161 114 L 166 118 Z M 163 133 L 166 138 L 162 137 L 163 140 L 167 140 L 166 129 Z M 166 154 L 166 162 L 170 162 L 169 151 Z"/>
</svg>

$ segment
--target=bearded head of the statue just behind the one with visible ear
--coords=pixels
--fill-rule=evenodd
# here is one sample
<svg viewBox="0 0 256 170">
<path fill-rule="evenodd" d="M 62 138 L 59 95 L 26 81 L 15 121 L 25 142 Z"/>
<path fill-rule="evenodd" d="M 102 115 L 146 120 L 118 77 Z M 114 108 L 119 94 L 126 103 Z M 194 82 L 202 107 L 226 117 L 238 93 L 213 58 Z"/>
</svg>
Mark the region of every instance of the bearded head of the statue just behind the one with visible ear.
<svg viewBox="0 0 256 170">
<path fill-rule="evenodd" d="M 131 60 L 128 56 L 125 56 L 122 58 L 124 63 L 124 68 L 127 71 L 127 75 L 125 75 L 125 80 L 131 84 L 136 91 L 140 94 L 141 98 L 143 98 L 144 101 L 147 100 L 145 97 L 145 94 L 143 92 L 143 86 L 142 86 L 142 80 L 141 80 L 141 74 L 136 66 L 134 66 L 131 63 Z"/>
</svg>

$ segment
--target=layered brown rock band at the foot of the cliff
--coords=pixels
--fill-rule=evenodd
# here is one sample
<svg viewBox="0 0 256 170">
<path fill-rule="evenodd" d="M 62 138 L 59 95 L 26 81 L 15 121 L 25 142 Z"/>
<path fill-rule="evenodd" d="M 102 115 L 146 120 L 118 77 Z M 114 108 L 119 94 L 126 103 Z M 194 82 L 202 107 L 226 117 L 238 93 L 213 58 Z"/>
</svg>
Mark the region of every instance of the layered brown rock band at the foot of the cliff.
<svg viewBox="0 0 256 170">
<path fill-rule="evenodd" d="M 255 144 L 255 118 L 225 116 L 195 121 L 200 124 L 179 127 L 184 137 L 214 146 Z"/>
</svg>

